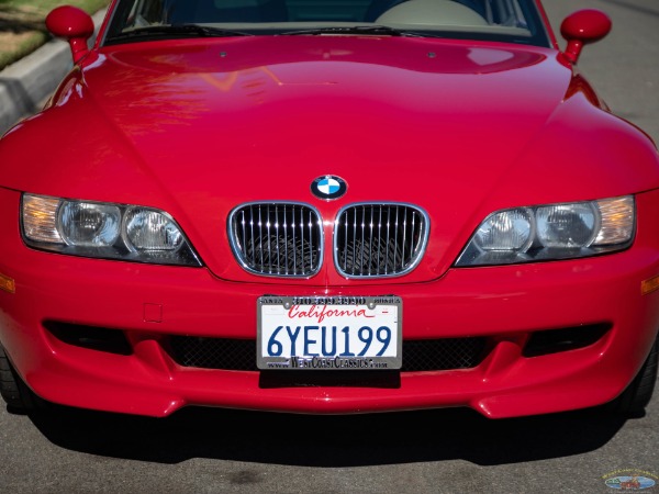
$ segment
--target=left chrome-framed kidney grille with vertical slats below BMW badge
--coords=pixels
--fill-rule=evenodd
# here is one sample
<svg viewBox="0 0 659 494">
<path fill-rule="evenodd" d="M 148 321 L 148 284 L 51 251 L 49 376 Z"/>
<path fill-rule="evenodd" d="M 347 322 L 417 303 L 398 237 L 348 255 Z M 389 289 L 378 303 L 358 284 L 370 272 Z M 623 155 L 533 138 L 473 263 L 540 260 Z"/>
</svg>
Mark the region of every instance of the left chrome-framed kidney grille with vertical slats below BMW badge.
<svg viewBox="0 0 659 494">
<path fill-rule="evenodd" d="M 255 203 L 228 218 L 234 255 L 247 271 L 273 277 L 311 277 L 323 259 L 319 213 L 294 203 Z"/>
</svg>

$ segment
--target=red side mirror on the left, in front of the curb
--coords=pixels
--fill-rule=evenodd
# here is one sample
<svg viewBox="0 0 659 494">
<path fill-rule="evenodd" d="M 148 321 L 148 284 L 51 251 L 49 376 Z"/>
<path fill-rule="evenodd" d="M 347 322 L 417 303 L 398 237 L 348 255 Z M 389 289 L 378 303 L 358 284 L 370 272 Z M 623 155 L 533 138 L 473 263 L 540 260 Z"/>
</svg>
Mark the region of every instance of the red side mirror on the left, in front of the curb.
<svg viewBox="0 0 659 494">
<path fill-rule="evenodd" d="M 53 35 L 68 40 L 74 64 L 77 64 L 89 52 L 87 40 L 93 34 L 91 16 L 77 7 L 63 5 L 54 9 L 46 16 L 46 27 Z"/>
</svg>

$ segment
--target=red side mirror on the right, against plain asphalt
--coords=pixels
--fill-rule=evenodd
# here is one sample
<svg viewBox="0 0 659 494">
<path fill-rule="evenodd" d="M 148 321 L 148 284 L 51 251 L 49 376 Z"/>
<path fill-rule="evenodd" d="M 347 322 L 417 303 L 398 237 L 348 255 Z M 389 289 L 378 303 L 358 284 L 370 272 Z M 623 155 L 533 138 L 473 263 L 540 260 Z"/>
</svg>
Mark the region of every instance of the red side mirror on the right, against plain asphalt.
<svg viewBox="0 0 659 494">
<path fill-rule="evenodd" d="M 568 42 L 565 57 L 576 64 L 583 45 L 602 40 L 611 32 L 611 19 L 601 10 L 587 9 L 570 14 L 560 25 L 560 34 Z"/>
</svg>

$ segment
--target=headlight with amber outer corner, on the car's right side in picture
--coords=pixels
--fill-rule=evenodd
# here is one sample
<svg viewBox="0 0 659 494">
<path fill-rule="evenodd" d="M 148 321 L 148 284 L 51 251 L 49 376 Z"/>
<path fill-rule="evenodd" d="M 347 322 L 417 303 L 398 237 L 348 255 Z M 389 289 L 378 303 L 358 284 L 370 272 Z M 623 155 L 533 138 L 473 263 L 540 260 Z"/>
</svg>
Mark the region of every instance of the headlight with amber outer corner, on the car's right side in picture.
<svg viewBox="0 0 659 494">
<path fill-rule="evenodd" d="M 478 227 L 456 266 L 573 259 L 623 250 L 636 225 L 634 198 L 498 211 Z"/>
</svg>

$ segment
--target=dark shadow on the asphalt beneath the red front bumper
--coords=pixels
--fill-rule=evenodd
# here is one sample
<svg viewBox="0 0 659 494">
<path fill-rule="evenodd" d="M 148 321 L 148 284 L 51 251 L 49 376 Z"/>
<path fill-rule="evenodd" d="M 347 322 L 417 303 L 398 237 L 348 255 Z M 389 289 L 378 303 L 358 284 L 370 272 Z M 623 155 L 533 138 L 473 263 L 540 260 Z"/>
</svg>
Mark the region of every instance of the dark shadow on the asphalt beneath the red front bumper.
<svg viewBox="0 0 659 494">
<path fill-rule="evenodd" d="M 625 423 L 601 408 L 491 420 L 457 408 L 349 416 L 185 408 L 168 418 L 145 418 L 53 406 L 31 418 L 53 444 L 90 454 L 325 468 L 569 457 L 601 448 Z"/>
</svg>

